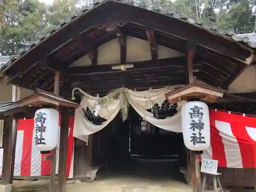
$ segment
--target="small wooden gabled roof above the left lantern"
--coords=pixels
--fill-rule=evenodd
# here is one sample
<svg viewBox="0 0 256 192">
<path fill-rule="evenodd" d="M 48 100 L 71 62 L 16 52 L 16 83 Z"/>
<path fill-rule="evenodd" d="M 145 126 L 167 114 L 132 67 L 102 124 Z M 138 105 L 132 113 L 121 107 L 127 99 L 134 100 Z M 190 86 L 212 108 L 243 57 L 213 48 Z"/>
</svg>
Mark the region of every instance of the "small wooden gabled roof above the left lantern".
<svg viewBox="0 0 256 192">
<path fill-rule="evenodd" d="M 57 97 L 51 93 L 45 92 L 35 92 L 33 95 L 28 96 L 24 99 L 17 101 L 20 107 L 25 105 L 34 105 L 34 106 L 60 106 L 77 109 L 79 104 Z"/>
</svg>

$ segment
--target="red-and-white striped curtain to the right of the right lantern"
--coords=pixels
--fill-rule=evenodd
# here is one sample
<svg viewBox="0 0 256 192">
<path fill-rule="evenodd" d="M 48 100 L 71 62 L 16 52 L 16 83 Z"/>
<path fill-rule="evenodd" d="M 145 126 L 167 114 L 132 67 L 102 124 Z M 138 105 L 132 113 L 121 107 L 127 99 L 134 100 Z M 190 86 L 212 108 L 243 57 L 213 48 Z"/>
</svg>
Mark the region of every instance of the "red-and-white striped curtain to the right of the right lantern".
<svg viewBox="0 0 256 192">
<path fill-rule="evenodd" d="M 211 146 L 203 156 L 220 167 L 256 167 L 256 117 L 210 110 Z"/>
</svg>

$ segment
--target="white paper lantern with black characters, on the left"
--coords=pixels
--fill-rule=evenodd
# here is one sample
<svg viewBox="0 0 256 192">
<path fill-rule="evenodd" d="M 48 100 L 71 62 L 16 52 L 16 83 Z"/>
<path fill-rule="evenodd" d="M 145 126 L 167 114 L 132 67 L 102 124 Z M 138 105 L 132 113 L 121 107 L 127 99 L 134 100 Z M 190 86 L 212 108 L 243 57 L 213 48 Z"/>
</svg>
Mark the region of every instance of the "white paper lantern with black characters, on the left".
<svg viewBox="0 0 256 192">
<path fill-rule="evenodd" d="M 44 108 L 35 112 L 34 144 L 39 151 L 53 150 L 59 140 L 59 112 Z"/>
</svg>

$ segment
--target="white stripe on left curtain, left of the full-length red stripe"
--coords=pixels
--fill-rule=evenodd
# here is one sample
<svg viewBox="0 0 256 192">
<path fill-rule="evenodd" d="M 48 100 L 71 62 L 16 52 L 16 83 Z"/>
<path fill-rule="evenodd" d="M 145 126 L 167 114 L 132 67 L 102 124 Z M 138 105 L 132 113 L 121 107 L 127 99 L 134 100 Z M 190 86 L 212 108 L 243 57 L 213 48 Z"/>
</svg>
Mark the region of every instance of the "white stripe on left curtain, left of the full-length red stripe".
<svg viewBox="0 0 256 192">
<path fill-rule="evenodd" d="M 24 131 L 17 131 L 16 149 L 15 149 L 15 163 L 14 176 L 20 176 L 22 170 L 22 152 L 23 152 Z"/>
</svg>

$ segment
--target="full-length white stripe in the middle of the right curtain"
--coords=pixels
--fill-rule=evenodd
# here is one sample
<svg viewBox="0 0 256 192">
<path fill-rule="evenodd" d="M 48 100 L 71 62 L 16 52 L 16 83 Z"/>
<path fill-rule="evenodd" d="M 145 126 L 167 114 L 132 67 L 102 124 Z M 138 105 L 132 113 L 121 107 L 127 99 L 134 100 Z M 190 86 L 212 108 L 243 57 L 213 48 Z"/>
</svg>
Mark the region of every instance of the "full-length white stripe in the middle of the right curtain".
<svg viewBox="0 0 256 192">
<path fill-rule="evenodd" d="M 219 130 L 220 136 L 222 138 L 226 160 L 227 160 L 227 167 L 243 168 L 239 143 L 237 138 L 234 137 L 232 133 L 230 123 L 215 121 L 215 125 Z M 214 152 L 214 153 L 218 153 L 218 152 Z"/>
</svg>

